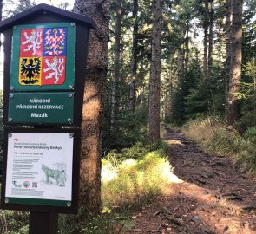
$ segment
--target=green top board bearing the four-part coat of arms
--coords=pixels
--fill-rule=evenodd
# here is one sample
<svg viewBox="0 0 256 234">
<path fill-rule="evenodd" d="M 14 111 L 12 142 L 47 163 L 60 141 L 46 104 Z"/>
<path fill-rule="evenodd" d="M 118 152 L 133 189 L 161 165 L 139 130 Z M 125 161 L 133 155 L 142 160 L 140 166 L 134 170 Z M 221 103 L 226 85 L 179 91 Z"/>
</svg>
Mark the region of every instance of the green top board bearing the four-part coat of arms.
<svg viewBox="0 0 256 234">
<path fill-rule="evenodd" d="M 62 24 L 65 26 L 67 23 Z M 53 27 L 47 24 L 34 27 L 21 25 L 18 30 L 14 30 L 10 85 L 60 86 L 65 83 L 66 77 L 72 79 L 75 69 L 74 35 L 74 27 Z M 69 81 L 69 85 L 72 82 Z"/>
</svg>

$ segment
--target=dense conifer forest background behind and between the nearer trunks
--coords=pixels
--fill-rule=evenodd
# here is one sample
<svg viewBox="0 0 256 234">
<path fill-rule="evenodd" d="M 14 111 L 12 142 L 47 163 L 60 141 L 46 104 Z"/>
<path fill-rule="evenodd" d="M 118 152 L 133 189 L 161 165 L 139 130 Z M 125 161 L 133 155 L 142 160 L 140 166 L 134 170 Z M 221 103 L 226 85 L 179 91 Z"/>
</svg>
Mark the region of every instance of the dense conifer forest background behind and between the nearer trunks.
<svg viewBox="0 0 256 234">
<path fill-rule="evenodd" d="M 178 125 L 208 115 L 228 120 L 228 92 L 232 82 L 230 59 L 236 56 L 233 55 L 236 51 L 230 49 L 234 37 L 230 27 L 235 23 L 230 23 L 228 14 L 233 7 L 231 2 L 241 1 L 159 2 L 161 120 Z M 110 20 L 110 34 L 104 151 L 131 146 L 148 137 L 149 84 L 155 37 L 152 36 L 152 2 L 116 0 L 110 3 L 106 16 Z M 29 0 L 14 1 L 10 9 L 3 1 L 3 16 L 12 16 L 35 4 Z M 61 3 L 59 7 L 72 10 L 73 6 Z M 233 91 L 237 111 L 229 121 L 240 133 L 256 124 L 255 7 L 255 1 L 243 3 L 241 75 L 236 81 L 239 88 Z M 234 9 L 238 9 L 237 5 Z"/>
</svg>

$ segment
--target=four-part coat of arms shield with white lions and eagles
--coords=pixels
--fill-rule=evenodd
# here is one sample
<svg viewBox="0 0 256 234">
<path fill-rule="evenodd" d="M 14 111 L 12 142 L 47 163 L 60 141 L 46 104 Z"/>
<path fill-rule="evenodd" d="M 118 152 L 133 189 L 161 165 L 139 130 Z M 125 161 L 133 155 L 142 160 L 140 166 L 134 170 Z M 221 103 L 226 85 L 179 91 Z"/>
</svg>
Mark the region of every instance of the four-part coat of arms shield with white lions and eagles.
<svg viewBox="0 0 256 234">
<path fill-rule="evenodd" d="M 61 85 L 66 74 L 67 28 L 22 29 L 21 85 Z"/>
</svg>

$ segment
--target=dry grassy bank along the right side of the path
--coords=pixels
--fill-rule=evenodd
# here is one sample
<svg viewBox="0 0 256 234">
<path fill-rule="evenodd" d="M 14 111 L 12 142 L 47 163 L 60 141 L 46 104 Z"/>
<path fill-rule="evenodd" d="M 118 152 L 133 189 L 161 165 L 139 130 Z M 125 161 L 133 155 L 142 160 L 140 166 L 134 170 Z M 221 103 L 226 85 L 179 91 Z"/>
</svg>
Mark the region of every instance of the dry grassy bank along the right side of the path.
<svg viewBox="0 0 256 234">
<path fill-rule="evenodd" d="M 256 172 L 256 127 L 240 135 L 214 118 L 187 122 L 182 132 L 200 143 L 208 153 L 232 156 L 241 171 Z"/>
</svg>

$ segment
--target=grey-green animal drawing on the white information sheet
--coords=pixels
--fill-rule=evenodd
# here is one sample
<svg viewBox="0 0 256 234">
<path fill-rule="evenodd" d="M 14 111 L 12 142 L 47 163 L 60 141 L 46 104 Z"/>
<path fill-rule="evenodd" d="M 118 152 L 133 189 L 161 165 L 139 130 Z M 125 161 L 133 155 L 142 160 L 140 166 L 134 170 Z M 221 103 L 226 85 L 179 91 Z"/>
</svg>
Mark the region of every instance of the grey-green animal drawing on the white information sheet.
<svg viewBox="0 0 256 234">
<path fill-rule="evenodd" d="M 48 166 L 42 165 L 42 170 L 45 174 L 45 183 L 50 184 L 52 183 L 50 179 L 54 179 L 56 185 L 61 187 L 65 186 L 65 181 L 67 180 L 65 168 L 62 168 L 62 170 L 51 169 Z"/>
</svg>

